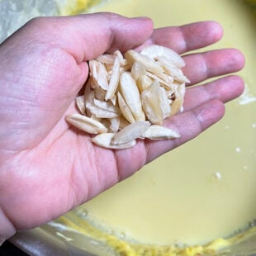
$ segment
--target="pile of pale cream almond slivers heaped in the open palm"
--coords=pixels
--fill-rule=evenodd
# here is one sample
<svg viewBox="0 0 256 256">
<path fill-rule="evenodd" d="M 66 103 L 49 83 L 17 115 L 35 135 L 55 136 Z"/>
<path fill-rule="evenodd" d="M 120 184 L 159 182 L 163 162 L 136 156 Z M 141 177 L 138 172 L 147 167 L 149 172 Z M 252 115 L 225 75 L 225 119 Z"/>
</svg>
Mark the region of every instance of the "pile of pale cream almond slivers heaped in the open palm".
<svg viewBox="0 0 256 256">
<path fill-rule="evenodd" d="M 89 61 L 84 95 L 76 98 L 80 114 L 66 120 L 96 135 L 93 143 L 107 149 L 127 149 L 136 139 L 167 140 L 180 135 L 162 126 L 168 116 L 183 111 L 185 65 L 164 46 L 149 45 L 140 52 L 101 55 Z"/>
</svg>

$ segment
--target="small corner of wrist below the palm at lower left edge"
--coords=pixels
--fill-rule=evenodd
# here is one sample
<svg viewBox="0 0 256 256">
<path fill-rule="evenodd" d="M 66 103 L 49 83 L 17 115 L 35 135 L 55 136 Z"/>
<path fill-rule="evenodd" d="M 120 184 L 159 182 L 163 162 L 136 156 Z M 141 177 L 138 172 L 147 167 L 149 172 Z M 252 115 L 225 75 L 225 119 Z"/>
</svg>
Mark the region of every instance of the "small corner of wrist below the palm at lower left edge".
<svg viewBox="0 0 256 256">
<path fill-rule="evenodd" d="M 0 246 L 5 240 L 12 237 L 15 233 L 16 229 L 14 225 L 12 225 L 12 222 L 7 218 L 0 206 Z"/>
</svg>

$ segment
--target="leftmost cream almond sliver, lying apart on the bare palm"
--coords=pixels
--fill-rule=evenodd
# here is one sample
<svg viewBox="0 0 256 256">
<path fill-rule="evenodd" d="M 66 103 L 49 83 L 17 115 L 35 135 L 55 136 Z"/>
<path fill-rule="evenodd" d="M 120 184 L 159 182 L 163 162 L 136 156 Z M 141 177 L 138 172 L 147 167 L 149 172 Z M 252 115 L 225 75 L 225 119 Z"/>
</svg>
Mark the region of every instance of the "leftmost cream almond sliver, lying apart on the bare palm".
<svg viewBox="0 0 256 256">
<path fill-rule="evenodd" d="M 101 122 L 95 121 L 92 118 L 80 114 L 66 116 L 66 120 L 79 130 L 84 130 L 90 134 L 99 134 L 107 132 L 107 127 Z"/>
</svg>

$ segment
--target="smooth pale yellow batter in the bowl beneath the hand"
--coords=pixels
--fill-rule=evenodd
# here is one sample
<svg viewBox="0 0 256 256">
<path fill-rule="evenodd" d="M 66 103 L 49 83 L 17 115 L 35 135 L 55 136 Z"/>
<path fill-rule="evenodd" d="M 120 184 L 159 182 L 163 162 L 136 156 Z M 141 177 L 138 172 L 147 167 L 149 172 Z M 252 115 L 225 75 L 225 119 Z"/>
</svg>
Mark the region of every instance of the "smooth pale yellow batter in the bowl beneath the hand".
<svg viewBox="0 0 256 256">
<path fill-rule="evenodd" d="M 242 97 L 227 104 L 225 118 L 216 126 L 59 221 L 83 234 L 107 239 L 118 251 L 126 252 L 122 255 L 145 255 L 145 249 L 149 255 L 174 255 L 178 251 L 181 255 L 211 254 L 232 244 L 237 237 L 225 239 L 249 229 L 256 219 L 254 11 L 243 1 L 231 0 L 112 0 L 103 1 L 90 12 L 98 11 L 148 16 L 156 27 L 219 21 L 225 36 L 214 48 L 235 47 L 244 52 L 246 65 L 240 75 L 246 88 Z M 86 213 L 86 221 L 82 213 Z M 78 218 L 79 224 L 68 221 L 72 218 Z M 252 229 L 247 235 L 254 232 Z M 201 246 L 209 243 L 208 247 Z"/>
</svg>

